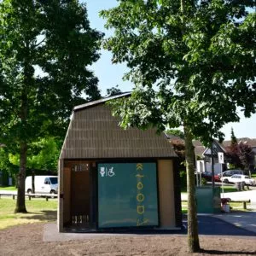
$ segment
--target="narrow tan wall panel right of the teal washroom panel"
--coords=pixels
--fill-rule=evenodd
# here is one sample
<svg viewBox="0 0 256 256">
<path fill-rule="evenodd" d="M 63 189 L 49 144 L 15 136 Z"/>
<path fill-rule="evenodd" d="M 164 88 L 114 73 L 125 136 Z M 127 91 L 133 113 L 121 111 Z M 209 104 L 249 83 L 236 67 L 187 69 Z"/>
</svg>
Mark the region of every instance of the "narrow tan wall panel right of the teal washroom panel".
<svg viewBox="0 0 256 256">
<path fill-rule="evenodd" d="M 160 227 L 175 228 L 173 161 L 158 160 Z"/>
</svg>

